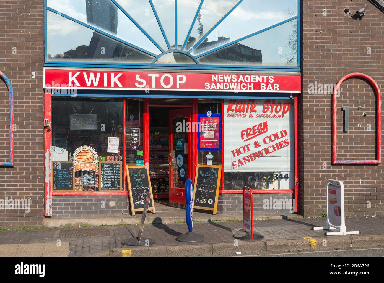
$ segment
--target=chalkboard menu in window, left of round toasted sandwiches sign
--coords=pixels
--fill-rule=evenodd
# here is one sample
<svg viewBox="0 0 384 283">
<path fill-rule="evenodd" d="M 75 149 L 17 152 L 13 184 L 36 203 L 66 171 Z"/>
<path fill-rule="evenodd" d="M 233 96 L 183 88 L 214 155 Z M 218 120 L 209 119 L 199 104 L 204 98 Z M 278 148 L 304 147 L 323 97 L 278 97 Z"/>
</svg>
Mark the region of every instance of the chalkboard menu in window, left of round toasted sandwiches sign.
<svg viewBox="0 0 384 283">
<path fill-rule="evenodd" d="M 73 190 L 72 161 L 52 161 L 52 190 Z"/>
</svg>

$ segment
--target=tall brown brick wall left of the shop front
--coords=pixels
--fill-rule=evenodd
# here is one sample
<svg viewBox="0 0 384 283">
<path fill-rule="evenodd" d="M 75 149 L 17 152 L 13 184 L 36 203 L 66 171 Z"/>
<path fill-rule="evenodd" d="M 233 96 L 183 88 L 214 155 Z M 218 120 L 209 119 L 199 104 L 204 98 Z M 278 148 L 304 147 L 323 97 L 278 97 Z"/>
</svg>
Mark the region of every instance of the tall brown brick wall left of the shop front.
<svg viewBox="0 0 384 283">
<path fill-rule="evenodd" d="M 44 191 L 43 0 L 0 0 L 0 71 L 15 93 L 15 166 L 0 168 L 0 199 L 31 199 L 31 212 L 0 210 L 0 226 L 41 225 Z M 34 79 L 31 72 L 36 73 Z M 8 161 L 8 91 L 0 80 L 0 162 Z"/>
</svg>

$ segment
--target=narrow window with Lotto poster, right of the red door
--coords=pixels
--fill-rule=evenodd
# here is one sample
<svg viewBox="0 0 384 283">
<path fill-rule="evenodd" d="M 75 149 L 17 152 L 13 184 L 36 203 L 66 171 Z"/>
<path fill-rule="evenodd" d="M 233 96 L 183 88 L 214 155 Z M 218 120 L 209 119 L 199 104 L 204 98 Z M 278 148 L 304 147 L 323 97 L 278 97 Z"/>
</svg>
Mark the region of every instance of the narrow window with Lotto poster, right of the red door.
<svg viewBox="0 0 384 283">
<path fill-rule="evenodd" d="M 207 115 L 207 113 L 210 112 L 211 117 L 214 117 L 215 114 L 222 115 L 222 100 L 213 100 L 213 99 L 199 99 L 198 103 L 198 113 L 199 115 Z M 207 115 L 208 116 L 208 115 Z M 221 117 L 222 118 L 222 117 Z M 201 119 L 204 119 L 201 118 Z M 217 122 L 219 122 L 218 117 L 214 117 L 214 119 L 217 119 Z M 199 122 L 199 121 L 198 121 Z M 200 122 L 201 123 L 201 122 Z M 197 141 L 200 143 L 200 150 L 197 153 L 197 163 L 204 164 L 204 165 L 221 165 L 222 163 L 222 148 L 220 150 L 209 150 L 209 147 L 218 147 L 215 146 L 217 143 L 218 145 L 221 145 L 221 132 L 218 132 L 216 130 L 209 130 L 209 133 L 206 133 L 204 135 L 204 129 L 201 127 L 199 128 L 199 131 L 202 131 L 202 133 L 199 133 L 199 140 Z M 212 143 L 212 145 L 211 145 Z M 205 149 L 205 146 L 207 146 L 207 149 Z M 221 190 L 221 182 L 220 182 L 220 190 Z"/>
</svg>

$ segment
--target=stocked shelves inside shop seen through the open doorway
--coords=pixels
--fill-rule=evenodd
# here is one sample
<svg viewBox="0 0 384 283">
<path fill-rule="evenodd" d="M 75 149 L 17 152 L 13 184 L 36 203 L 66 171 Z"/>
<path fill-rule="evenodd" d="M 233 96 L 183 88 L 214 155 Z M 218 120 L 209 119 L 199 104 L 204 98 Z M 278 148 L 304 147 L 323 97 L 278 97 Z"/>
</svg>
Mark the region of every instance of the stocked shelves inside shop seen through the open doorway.
<svg viewBox="0 0 384 283">
<path fill-rule="evenodd" d="M 169 197 L 169 130 L 149 130 L 149 175 L 154 198 Z"/>
</svg>

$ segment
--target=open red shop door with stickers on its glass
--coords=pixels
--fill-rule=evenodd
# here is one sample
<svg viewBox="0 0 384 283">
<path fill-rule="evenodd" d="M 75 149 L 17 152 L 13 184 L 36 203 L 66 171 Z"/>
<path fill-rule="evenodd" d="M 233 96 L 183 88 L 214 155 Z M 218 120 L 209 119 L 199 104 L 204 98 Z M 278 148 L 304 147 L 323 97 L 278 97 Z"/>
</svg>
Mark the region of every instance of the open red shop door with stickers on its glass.
<svg viewBox="0 0 384 283">
<path fill-rule="evenodd" d="M 188 123 L 189 122 L 189 123 Z M 189 127 L 188 127 L 189 125 Z M 169 204 L 185 205 L 185 181 L 192 168 L 192 110 L 169 111 Z"/>
</svg>

